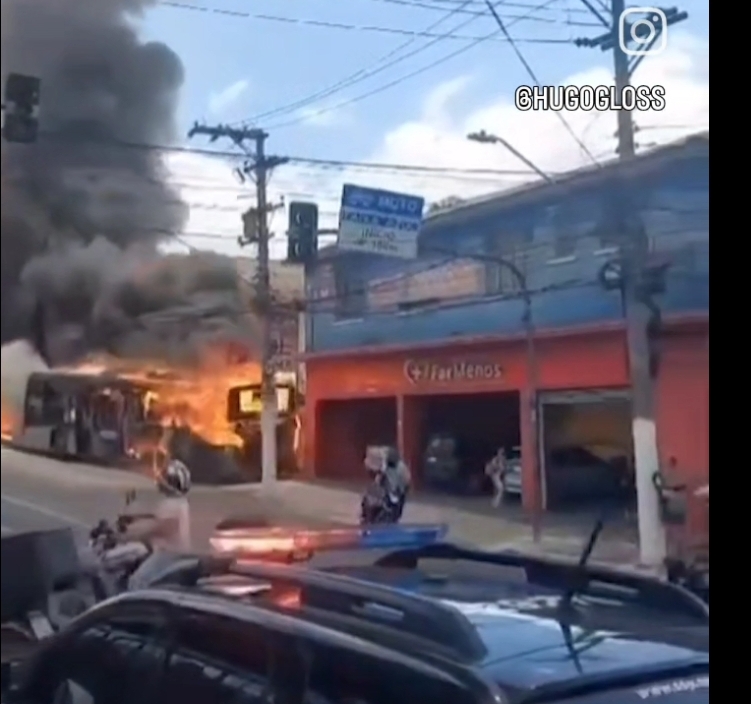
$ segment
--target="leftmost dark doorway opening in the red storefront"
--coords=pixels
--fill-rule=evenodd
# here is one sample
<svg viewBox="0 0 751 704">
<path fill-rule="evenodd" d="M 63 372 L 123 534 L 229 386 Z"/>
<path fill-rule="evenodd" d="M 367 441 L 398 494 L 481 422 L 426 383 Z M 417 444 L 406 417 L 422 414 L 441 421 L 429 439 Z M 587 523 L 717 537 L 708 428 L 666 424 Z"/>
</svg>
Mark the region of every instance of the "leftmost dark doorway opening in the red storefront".
<svg viewBox="0 0 751 704">
<path fill-rule="evenodd" d="M 397 444 L 396 398 L 323 401 L 318 408 L 316 467 L 327 479 L 364 479 L 369 445 Z"/>
</svg>

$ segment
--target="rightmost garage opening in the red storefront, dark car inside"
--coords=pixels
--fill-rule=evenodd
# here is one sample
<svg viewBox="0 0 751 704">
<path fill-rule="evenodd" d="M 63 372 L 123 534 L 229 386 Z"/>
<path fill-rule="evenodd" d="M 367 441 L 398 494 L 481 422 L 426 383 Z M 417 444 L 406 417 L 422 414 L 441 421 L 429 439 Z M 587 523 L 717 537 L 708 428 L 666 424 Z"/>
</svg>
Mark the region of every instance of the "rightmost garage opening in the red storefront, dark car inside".
<svg viewBox="0 0 751 704">
<path fill-rule="evenodd" d="M 541 416 L 548 510 L 633 505 L 634 451 L 627 392 L 551 395 L 543 400 Z"/>
</svg>

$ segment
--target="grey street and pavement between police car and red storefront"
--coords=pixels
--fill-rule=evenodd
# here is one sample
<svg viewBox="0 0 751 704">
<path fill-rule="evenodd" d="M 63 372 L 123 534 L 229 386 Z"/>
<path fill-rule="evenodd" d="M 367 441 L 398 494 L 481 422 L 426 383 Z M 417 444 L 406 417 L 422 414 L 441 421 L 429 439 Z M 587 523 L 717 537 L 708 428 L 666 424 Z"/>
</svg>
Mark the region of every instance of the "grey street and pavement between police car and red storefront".
<svg viewBox="0 0 751 704">
<path fill-rule="evenodd" d="M 73 462 L 60 462 L 2 448 L 2 523 L 8 533 L 72 526 L 86 531 L 104 518 L 114 519 L 125 509 L 125 493 L 137 492 L 129 512 L 148 512 L 157 493 L 151 479 L 132 472 L 106 469 Z M 190 494 L 193 543 L 207 547 L 214 526 L 222 519 L 247 516 L 274 525 L 307 528 L 354 525 L 359 493 L 352 487 L 320 483 L 280 482 L 273 497 L 262 496 L 257 485 L 235 487 L 194 486 Z M 488 512 L 476 506 L 445 498 L 416 497 L 405 510 L 407 523 L 445 523 L 449 540 L 488 549 L 514 548 L 543 551 L 566 558 L 581 552 L 591 524 L 554 523 L 546 526 L 542 542 L 533 544 L 528 526 L 503 511 Z M 340 553 L 339 558 L 343 555 Z M 633 565 L 635 546 L 624 540 L 617 526 L 608 527 L 595 549 L 594 561 Z"/>
</svg>

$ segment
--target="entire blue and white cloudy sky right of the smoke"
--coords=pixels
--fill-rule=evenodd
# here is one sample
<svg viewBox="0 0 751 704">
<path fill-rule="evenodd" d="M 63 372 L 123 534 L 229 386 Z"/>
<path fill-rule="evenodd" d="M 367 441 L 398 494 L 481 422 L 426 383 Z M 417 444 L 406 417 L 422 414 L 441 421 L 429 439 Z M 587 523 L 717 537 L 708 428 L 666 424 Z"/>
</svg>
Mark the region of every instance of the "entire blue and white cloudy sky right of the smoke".
<svg viewBox="0 0 751 704">
<path fill-rule="evenodd" d="M 612 56 L 574 44 L 603 30 L 581 0 L 507 0 L 496 9 L 541 84 L 612 84 Z M 709 0 L 683 0 L 680 9 L 688 19 L 669 28 L 665 50 L 646 57 L 633 77 L 635 85 L 666 89 L 663 111 L 635 116 L 640 149 L 709 128 Z M 533 79 L 484 0 L 157 1 L 139 24 L 144 41 L 168 44 L 185 65 L 179 112 L 185 146 L 231 151 L 228 142 L 188 141 L 187 131 L 194 121 L 248 123 L 269 132 L 270 154 L 448 170 L 294 161 L 275 170 L 273 202 L 317 202 L 322 227 L 336 225 L 343 183 L 431 202 L 534 178 L 502 146 L 466 139 L 480 129 L 501 135 L 546 173 L 614 157 L 614 113 L 514 107 L 516 88 Z M 240 214 L 254 200 L 252 184 L 233 173 L 240 162 L 196 153 L 165 159 L 191 206 L 174 246 L 241 253 Z M 285 229 L 280 208 L 272 220 L 275 256 L 283 256 Z"/>
</svg>

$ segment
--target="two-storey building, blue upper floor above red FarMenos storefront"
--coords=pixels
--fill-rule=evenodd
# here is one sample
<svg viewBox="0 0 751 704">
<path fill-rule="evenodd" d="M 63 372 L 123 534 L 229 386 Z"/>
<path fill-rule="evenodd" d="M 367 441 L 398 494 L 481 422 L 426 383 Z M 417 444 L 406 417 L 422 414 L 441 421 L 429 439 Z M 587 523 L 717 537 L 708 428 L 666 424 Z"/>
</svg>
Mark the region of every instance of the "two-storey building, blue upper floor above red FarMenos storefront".
<svg viewBox="0 0 751 704">
<path fill-rule="evenodd" d="M 414 260 L 322 251 L 306 281 L 307 473 L 349 476 L 368 445 L 394 443 L 424 467 L 440 428 L 464 438 L 474 455 L 463 466 L 480 474 L 494 448 L 520 447 L 527 506 L 567 486 L 548 471 L 554 445 L 617 446 L 628 463 L 622 301 L 601 282 L 618 256 L 614 212 L 624 201 L 651 256 L 669 263 L 658 297 L 660 452 L 687 481 L 705 478 L 708 134 L 431 215 Z"/>
</svg>

